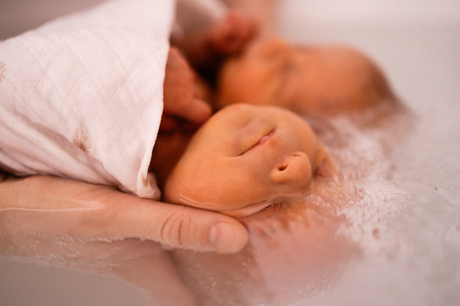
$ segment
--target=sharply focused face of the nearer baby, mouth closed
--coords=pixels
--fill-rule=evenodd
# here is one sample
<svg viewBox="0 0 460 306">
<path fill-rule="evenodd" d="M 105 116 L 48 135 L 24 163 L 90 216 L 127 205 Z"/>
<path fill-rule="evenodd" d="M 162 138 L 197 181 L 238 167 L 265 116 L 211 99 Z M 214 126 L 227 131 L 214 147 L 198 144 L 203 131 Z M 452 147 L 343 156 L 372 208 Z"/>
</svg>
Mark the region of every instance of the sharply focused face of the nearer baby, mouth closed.
<svg viewBox="0 0 460 306">
<path fill-rule="evenodd" d="M 334 175 L 327 149 L 301 117 L 276 107 L 233 105 L 209 119 L 169 175 L 164 199 L 235 216 L 311 193 Z"/>
</svg>

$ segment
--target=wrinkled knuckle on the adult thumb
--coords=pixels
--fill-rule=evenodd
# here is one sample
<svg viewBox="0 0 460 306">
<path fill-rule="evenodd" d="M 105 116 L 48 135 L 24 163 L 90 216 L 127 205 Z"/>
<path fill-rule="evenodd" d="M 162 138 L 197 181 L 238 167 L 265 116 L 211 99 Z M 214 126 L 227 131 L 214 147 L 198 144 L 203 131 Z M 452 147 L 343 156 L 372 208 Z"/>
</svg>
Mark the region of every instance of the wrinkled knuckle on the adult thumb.
<svg viewBox="0 0 460 306">
<path fill-rule="evenodd" d="M 163 223 L 160 237 L 163 243 L 172 246 L 187 246 L 191 234 L 192 219 L 186 212 L 169 216 Z"/>
</svg>

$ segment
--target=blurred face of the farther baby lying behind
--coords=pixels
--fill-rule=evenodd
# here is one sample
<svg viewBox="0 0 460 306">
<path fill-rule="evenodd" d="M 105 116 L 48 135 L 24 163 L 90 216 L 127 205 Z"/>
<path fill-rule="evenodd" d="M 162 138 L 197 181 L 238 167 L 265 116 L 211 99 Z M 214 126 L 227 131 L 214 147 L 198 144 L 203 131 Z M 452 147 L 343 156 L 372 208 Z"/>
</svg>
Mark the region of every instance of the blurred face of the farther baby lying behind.
<svg viewBox="0 0 460 306">
<path fill-rule="evenodd" d="M 336 114 L 391 98 L 380 70 L 346 47 L 256 41 L 228 60 L 218 78 L 217 104 L 277 105 L 302 114 Z"/>
</svg>

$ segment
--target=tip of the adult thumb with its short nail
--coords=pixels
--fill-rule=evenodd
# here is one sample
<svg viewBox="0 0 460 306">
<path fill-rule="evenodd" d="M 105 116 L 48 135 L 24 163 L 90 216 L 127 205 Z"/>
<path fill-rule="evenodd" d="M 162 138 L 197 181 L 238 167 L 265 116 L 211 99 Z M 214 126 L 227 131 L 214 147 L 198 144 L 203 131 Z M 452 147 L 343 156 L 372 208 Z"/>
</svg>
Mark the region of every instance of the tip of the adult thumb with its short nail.
<svg viewBox="0 0 460 306">
<path fill-rule="evenodd" d="M 215 251 L 220 253 L 235 253 L 240 251 L 246 244 L 247 239 L 246 230 L 243 231 L 238 226 L 223 222 L 214 224 L 209 232 L 211 245 L 215 248 Z"/>
</svg>

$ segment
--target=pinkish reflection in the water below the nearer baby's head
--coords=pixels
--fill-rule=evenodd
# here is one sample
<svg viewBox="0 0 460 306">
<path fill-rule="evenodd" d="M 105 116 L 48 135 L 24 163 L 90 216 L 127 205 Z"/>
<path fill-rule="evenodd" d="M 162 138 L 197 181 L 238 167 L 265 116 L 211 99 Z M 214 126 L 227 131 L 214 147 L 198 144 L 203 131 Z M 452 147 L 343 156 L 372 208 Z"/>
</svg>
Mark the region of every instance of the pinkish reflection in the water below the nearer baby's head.
<svg viewBox="0 0 460 306">
<path fill-rule="evenodd" d="M 247 220 L 250 244 L 238 254 L 175 251 L 179 273 L 199 304 L 286 304 L 332 286 L 359 248 L 337 235 L 341 220 L 295 210 Z"/>
</svg>

